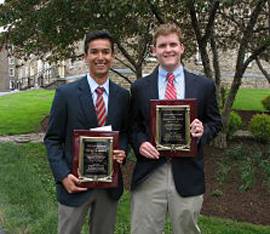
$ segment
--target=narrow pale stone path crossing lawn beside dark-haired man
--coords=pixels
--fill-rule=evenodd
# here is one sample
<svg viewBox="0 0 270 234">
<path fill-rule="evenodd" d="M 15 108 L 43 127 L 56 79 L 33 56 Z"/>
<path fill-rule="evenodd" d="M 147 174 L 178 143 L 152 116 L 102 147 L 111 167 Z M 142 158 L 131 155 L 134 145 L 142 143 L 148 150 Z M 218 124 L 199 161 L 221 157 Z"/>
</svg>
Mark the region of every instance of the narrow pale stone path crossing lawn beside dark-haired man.
<svg viewBox="0 0 270 234">
<path fill-rule="evenodd" d="M 14 136 L 0 136 L 1 142 L 16 142 L 16 143 L 28 143 L 28 142 L 43 142 L 44 133 L 29 133 Z M 1 233 L 0 233 L 1 234 Z"/>
</svg>

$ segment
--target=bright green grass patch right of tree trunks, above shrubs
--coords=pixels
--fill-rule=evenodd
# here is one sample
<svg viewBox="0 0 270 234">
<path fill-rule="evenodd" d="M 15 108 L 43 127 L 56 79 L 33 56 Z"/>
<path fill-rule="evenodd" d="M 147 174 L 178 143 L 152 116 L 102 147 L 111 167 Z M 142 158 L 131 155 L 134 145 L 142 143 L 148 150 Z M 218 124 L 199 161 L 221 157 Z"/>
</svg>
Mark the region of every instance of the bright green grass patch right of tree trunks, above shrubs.
<svg viewBox="0 0 270 234">
<path fill-rule="evenodd" d="M 265 111 L 261 101 L 268 95 L 270 95 L 270 89 L 240 89 L 233 104 L 233 109 Z"/>
</svg>

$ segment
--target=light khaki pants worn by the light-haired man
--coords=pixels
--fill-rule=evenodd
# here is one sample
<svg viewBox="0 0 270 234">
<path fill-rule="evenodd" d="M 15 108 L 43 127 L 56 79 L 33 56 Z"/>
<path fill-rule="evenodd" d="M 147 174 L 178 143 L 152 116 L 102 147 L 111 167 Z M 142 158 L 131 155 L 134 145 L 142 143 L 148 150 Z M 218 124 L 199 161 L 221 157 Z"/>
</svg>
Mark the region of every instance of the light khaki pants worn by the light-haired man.
<svg viewBox="0 0 270 234">
<path fill-rule="evenodd" d="M 154 171 L 132 193 L 131 233 L 161 234 L 168 213 L 174 234 L 199 234 L 203 195 L 181 197 L 175 189 L 171 162 Z"/>
</svg>

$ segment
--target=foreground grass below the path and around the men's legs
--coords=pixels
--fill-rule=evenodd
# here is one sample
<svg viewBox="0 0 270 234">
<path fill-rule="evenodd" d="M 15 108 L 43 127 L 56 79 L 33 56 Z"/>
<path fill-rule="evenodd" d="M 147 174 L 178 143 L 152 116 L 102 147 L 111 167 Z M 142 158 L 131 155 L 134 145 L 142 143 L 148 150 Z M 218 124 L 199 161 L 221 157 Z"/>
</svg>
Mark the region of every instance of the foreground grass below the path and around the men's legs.
<svg viewBox="0 0 270 234">
<path fill-rule="evenodd" d="M 54 234 L 57 202 L 54 181 L 42 144 L 0 144 L 0 226 L 7 233 Z M 115 234 L 130 231 L 130 194 L 120 200 Z M 270 226 L 201 216 L 204 234 L 268 234 Z M 86 234 L 86 226 L 84 227 Z M 167 222 L 165 234 L 171 234 Z"/>
</svg>

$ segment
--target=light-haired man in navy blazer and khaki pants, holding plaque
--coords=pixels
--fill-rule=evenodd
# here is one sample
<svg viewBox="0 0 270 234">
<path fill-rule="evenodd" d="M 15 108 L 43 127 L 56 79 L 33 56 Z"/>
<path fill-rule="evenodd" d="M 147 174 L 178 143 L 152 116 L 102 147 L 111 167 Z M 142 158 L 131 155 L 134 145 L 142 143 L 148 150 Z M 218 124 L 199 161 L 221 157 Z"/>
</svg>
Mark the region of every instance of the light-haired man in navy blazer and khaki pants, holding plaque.
<svg viewBox="0 0 270 234">
<path fill-rule="evenodd" d="M 131 185 L 131 233 L 161 234 L 167 213 L 173 233 L 200 233 L 197 220 L 205 192 L 202 146 L 222 126 L 215 85 L 184 69 L 184 45 L 175 24 L 157 28 L 153 52 L 159 66 L 131 87 L 131 143 L 137 157 Z M 150 99 L 168 97 L 168 73 L 174 77 L 171 96 L 198 101 L 198 115 L 190 125 L 191 135 L 197 138 L 198 153 L 194 157 L 164 157 L 150 143 Z"/>
</svg>

